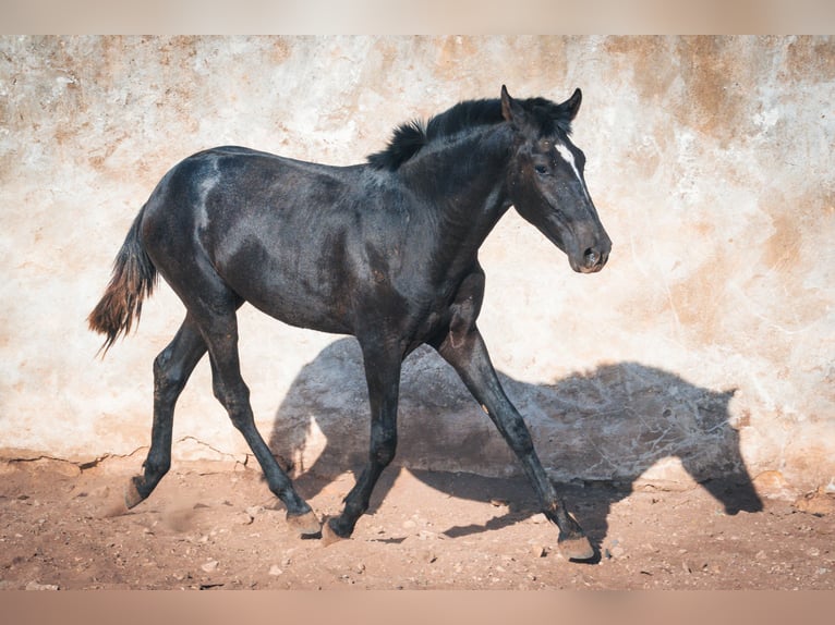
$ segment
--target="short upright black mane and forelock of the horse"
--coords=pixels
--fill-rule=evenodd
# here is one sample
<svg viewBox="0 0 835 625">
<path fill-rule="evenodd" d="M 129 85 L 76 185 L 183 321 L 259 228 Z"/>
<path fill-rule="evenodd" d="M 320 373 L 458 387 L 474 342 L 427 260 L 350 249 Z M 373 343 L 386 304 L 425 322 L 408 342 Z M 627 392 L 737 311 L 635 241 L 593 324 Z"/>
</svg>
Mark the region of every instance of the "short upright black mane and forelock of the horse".
<svg viewBox="0 0 835 625">
<path fill-rule="evenodd" d="M 529 98 L 517 102 L 538 124 L 544 134 L 553 134 L 555 128 L 566 134 L 571 133 L 571 119 L 561 105 L 545 98 Z M 368 156 L 368 164 L 374 169 L 395 171 L 429 144 L 477 126 L 499 124 L 504 121 L 501 101 L 498 98 L 459 102 L 451 109 L 433 115 L 428 122 L 412 120 L 399 125 L 386 148 Z"/>
</svg>

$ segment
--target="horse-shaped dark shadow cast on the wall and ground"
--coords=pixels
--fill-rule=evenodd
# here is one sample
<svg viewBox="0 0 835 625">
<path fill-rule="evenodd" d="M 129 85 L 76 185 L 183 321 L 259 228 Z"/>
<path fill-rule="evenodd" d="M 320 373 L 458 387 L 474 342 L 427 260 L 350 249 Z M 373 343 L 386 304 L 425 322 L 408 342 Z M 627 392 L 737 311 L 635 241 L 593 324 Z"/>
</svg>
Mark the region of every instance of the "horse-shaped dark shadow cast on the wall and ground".
<svg viewBox="0 0 835 625">
<path fill-rule="evenodd" d="M 555 384 L 499 377 L 531 429 L 546 471 L 564 485 L 569 510 L 593 542 L 606 536 L 612 504 L 632 492 L 648 469 L 670 459 L 727 514 L 762 510 L 740 454 L 739 433 L 729 422 L 734 391 L 717 393 L 637 363 L 607 365 Z M 401 470 L 453 498 L 510 502 L 506 514 L 484 526 L 441 529 L 450 537 L 488 531 L 540 512 L 521 464 L 452 368 L 429 347 L 403 364 L 398 426 L 397 456 L 377 483 L 370 514 Z M 349 469 L 359 475 L 368 453 L 368 430 L 362 355 L 356 341 L 342 339 L 300 371 L 277 410 L 269 445 L 310 499 L 327 479 Z M 462 473 L 474 475 L 458 479 Z M 609 488 L 584 488 L 598 483 Z"/>
</svg>

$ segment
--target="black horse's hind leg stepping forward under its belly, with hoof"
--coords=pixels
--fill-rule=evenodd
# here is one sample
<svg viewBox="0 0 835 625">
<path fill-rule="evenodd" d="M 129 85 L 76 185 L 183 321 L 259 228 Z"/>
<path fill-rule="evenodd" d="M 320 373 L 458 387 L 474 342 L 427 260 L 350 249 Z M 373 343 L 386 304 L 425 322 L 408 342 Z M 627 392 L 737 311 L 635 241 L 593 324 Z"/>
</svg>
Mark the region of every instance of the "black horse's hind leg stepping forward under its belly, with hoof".
<svg viewBox="0 0 835 625">
<path fill-rule="evenodd" d="M 250 390 L 241 377 L 238 355 L 238 320 L 234 308 L 225 314 L 211 314 L 201 321 L 203 336 L 211 360 L 215 396 L 229 413 L 234 427 L 243 434 L 258 461 L 269 489 L 287 506 L 288 522 L 303 536 L 320 530 L 318 518 L 281 469 L 255 427 L 250 405 Z"/>
</svg>

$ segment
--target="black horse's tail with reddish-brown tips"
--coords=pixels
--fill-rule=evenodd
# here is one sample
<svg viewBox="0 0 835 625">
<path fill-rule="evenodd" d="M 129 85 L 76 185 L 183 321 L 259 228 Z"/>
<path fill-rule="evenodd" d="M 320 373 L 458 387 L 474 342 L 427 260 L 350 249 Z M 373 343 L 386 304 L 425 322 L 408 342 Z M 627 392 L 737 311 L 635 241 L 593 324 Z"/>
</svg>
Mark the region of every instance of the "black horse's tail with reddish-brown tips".
<svg viewBox="0 0 835 625">
<path fill-rule="evenodd" d="M 107 336 L 99 350 L 104 350 L 104 354 L 120 334 L 130 331 L 134 317 L 138 322 L 142 301 L 150 296 L 156 284 L 157 268 L 140 241 L 140 223 L 144 212 L 143 207 L 116 257 L 105 295 L 87 317 L 89 329 Z"/>
</svg>

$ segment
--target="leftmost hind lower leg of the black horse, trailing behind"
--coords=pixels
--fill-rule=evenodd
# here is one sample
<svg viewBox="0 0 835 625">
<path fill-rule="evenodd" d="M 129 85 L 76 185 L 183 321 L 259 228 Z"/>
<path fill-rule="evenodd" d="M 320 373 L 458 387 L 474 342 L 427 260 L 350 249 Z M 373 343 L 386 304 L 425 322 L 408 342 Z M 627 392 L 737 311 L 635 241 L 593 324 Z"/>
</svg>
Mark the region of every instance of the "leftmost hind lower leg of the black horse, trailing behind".
<svg viewBox="0 0 835 625">
<path fill-rule="evenodd" d="M 156 488 L 171 466 L 174 405 L 194 367 L 206 353 L 206 343 L 190 316 L 171 343 L 154 360 L 154 425 L 143 475 L 129 482 L 124 503 L 131 508 Z"/>
</svg>

